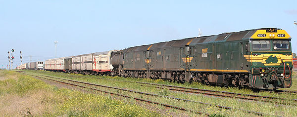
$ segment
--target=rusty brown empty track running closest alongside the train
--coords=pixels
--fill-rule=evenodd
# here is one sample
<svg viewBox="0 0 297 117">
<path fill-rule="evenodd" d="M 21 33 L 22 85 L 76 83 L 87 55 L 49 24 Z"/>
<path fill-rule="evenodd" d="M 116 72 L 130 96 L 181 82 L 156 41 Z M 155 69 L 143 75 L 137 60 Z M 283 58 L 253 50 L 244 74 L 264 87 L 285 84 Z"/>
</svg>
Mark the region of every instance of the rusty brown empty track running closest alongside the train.
<svg viewBox="0 0 297 117">
<path fill-rule="evenodd" d="M 60 74 L 60 75 L 62 75 L 62 74 Z M 71 75 L 70 77 L 89 78 L 89 77 L 86 77 L 86 76 L 74 76 L 74 75 Z M 238 98 L 238 99 L 242 99 L 242 100 L 271 102 L 271 103 L 283 104 L 283 105 L 288 105 L 288 104 L 289 105 L 295 105 L 295 106 L 297 105 L 296 103 L 286 103 L 286 102 L 283 102 L 283 101 L 279 101 L 279 100 L 292 100 L 294 102 L 297 102 L 297 99 L 286 99 L 286 98 L 271 97 L 271 96 L 261 96 L 261 95 L 234 93 L 234 92 L 228 92 L 228 91 L 216 91 L 216 90 L 190 88 L 190 87 L 156 84 L 156 83 L 148 83 L 148 82 L 134 82 L 134 81 L 126 81 L 126 80 L 110 79 L 110 78 L 99 78 L 99 79 L 117 80 L 117 81 L 123 81 L 123 82 L 148 84 L 148 85 L 153 85 L 156 88 L 162 88 L 162 89 L 167 88 L 169 90 L 174 90 L 174 91 L 179 91 L 179 92 L 204 94 L 204 95 L 216 96 L 216 97 Z"/>
</svg>

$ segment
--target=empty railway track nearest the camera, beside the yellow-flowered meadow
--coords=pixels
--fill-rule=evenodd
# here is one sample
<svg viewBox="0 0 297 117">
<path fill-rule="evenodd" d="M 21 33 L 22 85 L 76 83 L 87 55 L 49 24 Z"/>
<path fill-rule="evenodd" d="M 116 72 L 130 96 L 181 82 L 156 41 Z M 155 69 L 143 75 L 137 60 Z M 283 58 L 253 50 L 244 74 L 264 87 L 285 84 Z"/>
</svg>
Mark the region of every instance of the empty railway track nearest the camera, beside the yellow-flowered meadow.
<svg viewBox="0 0 297 117">
<path fill-rule="evenodd" d="M 30 74 L 27 74 L 27 73 L 23 73 L 23 74 L 30 75 Z M 56 78 L 56 77 L 44 76 L 44 75 L 40 75 L 40 76 L 43 76 L 43 77 L 39 77 L 39 76 L 36 76 L 36 75 L 30 75 L 30 76 L 37 77 L 37 78 L 48 77 L 48 78 L 44 78 L 44 79 L 48 79 L 48 80 L 52 80 L 52 81 L 57 81 L 57 82 L 61 82 L 61 83 L 66 83 L 66 84 L 73 85 L 72 83 L 69 83 L 69 82 L 63 82 L 63 81 L 59 81 L 59 80 L 51 79 L 51 78 Z M 255 115 L 258 115 L 258 116 L 264 116 L 264 115 L 265 115 L 265 116 L 271 116 L 271 115 L 268 115 L 268 114 L 264 114 L 264 113 L 260 113 L 260 112 L 255 112 L 255 111 L 249 111 L 249 110 L 243 110 L 243 109 L 236 109 L 236 108 L 232 108 L 232 107 L 226 107 L 226 106 L 221 106 L 221 105 L 214 105 L 214 104 L 209 104 L 209 103 L 204 103 L 204 102 L 198 102 L 198 101 L 192 101 L 192 100 L 180 99 L 180 98 L 169 97 L 169 96 L 163 96 L 163 95 L 157 95 L 157 94 L 146 93 L 146 92 L 139 92 L 139 91 L 134 91 L 134 90 L 129 90 L 129 89 L 123 89 L 123 88 L 117 88 L 117 87 L 111 87 L 111 86 L 99 85 L 99 84 L 94 84 L 94 83 L 89 83 L 89 82 L 76 81 L 76 80 L 64 79 L 64 78 L 56 78 L 56 79 L 66 80 L 66 81 L 71 81 L 71 82 L 76 82 L 76 83 L 82 83 L 82 84 L 88 84 L 88 85 L 92 85 L 92 86 L 99 86 L 99 87 L 105 87 L 105 88 L 117 89 L 117 90 L 122 90 L 122 91 L 134 92 L 134 93 L 139 93 L 139 94 L 144 94 L 144 95 L 149 95 L 149 96 L 169 98 L 169 99 L 174 99 L 174 100 L 179 100 L 179 101 L 184 101 L 184 102 L 193 102 L 193 103 L 198 103 L 198 104 L 202 104 L 202 105 L 215 106 L 215 107 L 222 108 L 222 109 L 239 110 L 239 111 L 243 111 L 243 112 L 246 112 L 246 113 L 255 114 Z M 81 85 L 77 85 L 77 84 L 75 84 L 75 86 L 80 86 L 80 87 L 82 87 Z M 85 87 L 85 86 L 84 86 L 84 87 Z M 88 88 L 90 88 L 90 87 L 88 87 Z M 92 89 L 92 88 L 91 88 L 91 89 Z M 102 91 L 101 91 L 101 92 L 102 92 Z M 106 93 L 106 92 L 104 92 L 104 93 Z M 121 94 L 116 94 L 116 95 L 121 95 Z M 126 96 L 125 96 L 125 97 L 126 97 Z M 129 98 L 130 98 L 130 96 L 129 96 Z M 136 100 L 140 100 L 140 99 L 136 99 Z M 142 99 L 142 100 L 144 100 L 144 99 Z M 142 100 L 141 100 L 141 101 L 142 101 Z M 151 102 L 152 102 L 152 101 L 151 101 Z M 183 111 L 196 112 L 196 111 L 192 111 L 192 110 L 189 110 L 189 109 L 185 109 L 185 108 L 181 108 L 181 107 L 176 107 L 176 106 L 172 106 L 172 105 L 167 105 L 167 104 L 162 104 L 162 103 L 157 103 L 157 102 L 155 102 L 154 104 L 160 104 L 160 105 L 162 105 L 162 106 L 166 106 L 166 107 L 170 107 L 170 108 L 173 107 L 173 108 L 175 108 L 175 109 L 179 109 L 179 110 L 183 110 Z M 196 113 L 197 113 L 197 112 L 196 112 Z M 199 114 L 207 115 L 207 113 L 204 113 L 204 112 L 199 112 L 199 111 L 198 111 L 198 113 L 199 113 Z M 208 116 L 209 116 L 209 115 L 208 115 Z"/>
</svg>

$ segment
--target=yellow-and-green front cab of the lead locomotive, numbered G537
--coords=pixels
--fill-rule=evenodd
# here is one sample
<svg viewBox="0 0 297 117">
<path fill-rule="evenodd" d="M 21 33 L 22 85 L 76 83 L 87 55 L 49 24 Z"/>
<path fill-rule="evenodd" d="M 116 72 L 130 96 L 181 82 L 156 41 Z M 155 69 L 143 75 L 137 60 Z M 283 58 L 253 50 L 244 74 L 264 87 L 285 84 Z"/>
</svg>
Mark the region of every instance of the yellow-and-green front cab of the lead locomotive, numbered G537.
<svg viewBox="0 0 297 117">
<path fill-rule="evenodd" d="M 289 88 L 292 85 L 291 37 L 281 29 L 260 29 L 249 39 L 250 84 L 253 88 Z"/>
</svg>

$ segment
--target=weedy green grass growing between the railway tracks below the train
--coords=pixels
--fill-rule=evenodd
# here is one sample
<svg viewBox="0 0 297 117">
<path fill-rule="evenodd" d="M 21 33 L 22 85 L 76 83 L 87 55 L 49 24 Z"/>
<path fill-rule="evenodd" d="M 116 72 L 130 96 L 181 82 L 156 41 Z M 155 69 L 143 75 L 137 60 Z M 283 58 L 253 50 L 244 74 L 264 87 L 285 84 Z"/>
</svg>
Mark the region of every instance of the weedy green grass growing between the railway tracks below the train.
<svg viewBox="0 0 297 117">
<path fill-rule="evenodd" d="M 56 73 L 46 72 L 46 71 L 27 71 L 27 72 L 35 73 L 35 74 L 44 74 L 44 75 L 55 76 L 55 77 L 60 77 L 60 78 L 68 78 L 68 79 L 73 79 L 73 80 L 86 81 L 86 82 L 107 85 L 107 86 L 114 86 L 114 87 L 119 87 L 119 88 L 126 88 L 126 89 L 137 90 L 137 91 L 153 93 L 153 94 L 159 94 L 159 95 L 164 95 L 164 96 L 195 100 L 195 101 L 199 101 L 199 102 L 210 103 L 213 105 L 222 105 L 222 106 L 228 106 L 228 107 L 233 107 L 233 108 L 240 108 L 240 109 L 245 109 L 245 110 L 250 110 L 250 111 L 262 112 L 262 113 L 270 114 L 270 115 L 277 115 L 277 116 L 284 116 L 284 117 L 296 117 L 297 116 L 297 113 L 296 113 L 297 107 L 291 106 L 291 105 L 276 105 L 274 103 L 244 101 L 244 100 L 233 99 L 233 98 L 217 98 L 217 97 L 210 97 L 210 96 L 205 96 L 205 95 L 185 94 L 185 93 L 170 91 L 168 89 L 157 89 L 157 88 L 154 88 L 151 86 L 140 85 L 138 83 L 128 83 L 128 82 L 121 82 L 121 81 L 115 81 L 115 80 L 98 79 L 98 78 L 96 78 L 98 76 L 88 76 L 90 78 L 73 78 L 73 77 L 71 77 L 72 75 L 56 74 Z M 81 75 L 78 75 L 78 76 L 81 76 Z M 121 77 L 104 77 L 104 78 L 121 79 L 121 80 L 129 80 L 129 81 L 143 81 L 143 82 L 151 82 L 151 83 L 160 83 L 160 84 L 169 84 L 169 85 L 177 85 L 177 86 L 185 86 L 185 87 L 196 87 L 196 88 L 203 88 L 203 89 L 231 91 L 231 92 L 239 92 L 239 93 L 247 93 L 247 94 L 266 95 L 266 96 L 296 99 L 296 94 L 276 94 L 276 93 L 269 93 L 269 92 L 254 93 L 249 89 L 238 89 L 236 87 L 225 88 L 225 87 L 206 86 L 206 85 L 202 85 L 200 83 L 180 84 L 180 83 L 175 83 L 175 82 L 164 81 L 161 79 L 152 80 L 152 79 L 147 79 L 147 78 L 121 78 Z M 112 92 L 116 92 L 116 93 L 121 93 L 121 94 L 125 94 L 125 95 L 131 95 L 133 97 L 146 98 L 146 99 L 149 99 L 152 101 L 166 103 L 166 104 L 170 104 L 170 105 L 174 105 L 174 106 L 180 106 L 180 107 L 184 107 L 184 108 L 188 108 L 188 109 L 192 109 L 192 110 L 196 110 L 196 111 L 207 112 L 209 114 L 212 114 L 212 116 L 214 116 L 214 117 L 255 116 L 255 115 L 247 114 L 242 111 L 220 109 L 220 108 L 217 108 L 216 106 L 205 106 L 205 105 L 200 105 L 197 103 L 181 102 L 181 101 L 172 100 L 172 99 L 168 99 L 168 98 L 145 96 L 142 94 L 119 91 L 119 90 L 115 90 L 115 89 L 107 89 L 107 88 L 101 88 L 101 87 L 100 87 L 100 89 L 108 90 L 108 91 L 112 91 Z M 278 100 L 278 101 L 283 101 L 283 100 Z M 294 103 L 290 100 L 285 100 L 285 102 Z M 197 116 L 197 115 L 191 114 L 191 113 L 188 113 L 188 114 L 190 116 Z"/>
</svg>

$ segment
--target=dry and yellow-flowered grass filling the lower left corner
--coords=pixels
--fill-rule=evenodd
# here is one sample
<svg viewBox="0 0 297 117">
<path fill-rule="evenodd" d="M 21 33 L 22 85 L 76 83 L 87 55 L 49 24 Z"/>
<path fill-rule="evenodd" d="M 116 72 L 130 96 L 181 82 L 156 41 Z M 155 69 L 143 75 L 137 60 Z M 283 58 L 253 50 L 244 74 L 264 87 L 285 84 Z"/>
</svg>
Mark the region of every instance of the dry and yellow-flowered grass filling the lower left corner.
<svg viewBox="0 0 297 117">
<path fill-rule="evenodd" d="M 158 117 L 136 104 L 110 96 L 49 85 L 16 72 L 0 71 L 0 116 Z"/>
</svg>

